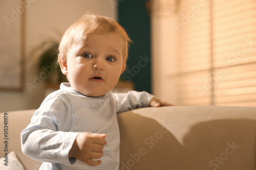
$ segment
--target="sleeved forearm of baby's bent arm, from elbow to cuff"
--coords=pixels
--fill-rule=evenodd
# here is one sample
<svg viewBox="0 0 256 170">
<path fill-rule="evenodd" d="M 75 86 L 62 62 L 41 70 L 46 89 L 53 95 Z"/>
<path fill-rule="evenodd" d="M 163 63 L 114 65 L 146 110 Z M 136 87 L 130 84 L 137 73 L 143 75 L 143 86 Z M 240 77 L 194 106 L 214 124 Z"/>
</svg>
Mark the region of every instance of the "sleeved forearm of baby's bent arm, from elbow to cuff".
<svg viewBox="0 0 256 170">
<path fill-rule="evenodd" d="M 25 155 L 41 161 L 72 164 L 68 158 L 74 139 L 78 133 L 55 132 L 49 129 L 23 131 L 22 151 Z"/>
</svg>

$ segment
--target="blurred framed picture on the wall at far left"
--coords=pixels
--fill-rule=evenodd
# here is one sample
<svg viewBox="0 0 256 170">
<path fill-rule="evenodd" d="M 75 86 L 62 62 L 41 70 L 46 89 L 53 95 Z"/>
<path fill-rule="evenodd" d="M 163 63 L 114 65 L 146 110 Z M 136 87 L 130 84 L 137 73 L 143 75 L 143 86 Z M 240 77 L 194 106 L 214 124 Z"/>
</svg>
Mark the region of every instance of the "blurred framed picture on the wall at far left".
<svg viewBox="0 0 256 170">
<path fill-rule="evenodd" d="M 0 90 L 22 90 L 24 84 L 24 1 L 0 1 Z"/>
</svg>

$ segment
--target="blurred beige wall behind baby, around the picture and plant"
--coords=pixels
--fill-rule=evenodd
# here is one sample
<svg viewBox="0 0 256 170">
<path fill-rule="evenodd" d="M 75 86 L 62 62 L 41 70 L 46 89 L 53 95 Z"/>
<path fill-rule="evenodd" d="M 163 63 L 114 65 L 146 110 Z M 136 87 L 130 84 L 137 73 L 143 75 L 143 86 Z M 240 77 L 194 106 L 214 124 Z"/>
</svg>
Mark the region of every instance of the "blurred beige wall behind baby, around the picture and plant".
<svg viewBox="0 0 256 170">
<path fill-rule="evenodd" d="M 25 29 L 25 81 L 22 91 L 0 91 L 0 112 L 36 109 L 44 100 L 44 84 L 31 91 L 27 83 L 34 81 L 34 61 L 28 53 L 46 38 L 58 38 L 56 30 L 62 33 L 79 16 L 87 11 L 117 19 L 117 6 L 114 0 L 25 0 L 30 3 L 26 11 Z M 5 8 L 4 6 L 0 7 Z M 17 7 L 13 6 L 13 9 Z M 10 14 L 12 9 L 10 9 Z"/>
</svg>

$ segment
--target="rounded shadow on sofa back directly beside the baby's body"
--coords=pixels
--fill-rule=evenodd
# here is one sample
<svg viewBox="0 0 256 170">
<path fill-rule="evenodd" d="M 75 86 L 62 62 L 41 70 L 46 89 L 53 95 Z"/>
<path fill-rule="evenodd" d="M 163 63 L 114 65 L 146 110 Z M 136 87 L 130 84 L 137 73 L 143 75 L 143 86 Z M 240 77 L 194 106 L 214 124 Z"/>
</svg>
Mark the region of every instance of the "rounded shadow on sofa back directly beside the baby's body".
<svg viewBox="0 0 256 170">
<path fill-rule="evenodd" d="M 166 126 L 131 112 L 120 117 L 120 169 L 182 167 L 184 147 Z M 131 125 L 127 125 L 128 122 Z"/>
</svg>

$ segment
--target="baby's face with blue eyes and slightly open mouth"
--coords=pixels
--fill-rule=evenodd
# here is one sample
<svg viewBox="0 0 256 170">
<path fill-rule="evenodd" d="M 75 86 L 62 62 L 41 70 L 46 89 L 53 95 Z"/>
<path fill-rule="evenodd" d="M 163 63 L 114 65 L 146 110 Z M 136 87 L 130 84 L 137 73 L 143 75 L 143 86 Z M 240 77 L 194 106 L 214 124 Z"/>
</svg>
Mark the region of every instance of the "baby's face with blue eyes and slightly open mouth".
<svg viewBox="0 0 256 170">
<path fill-rule="evenodd" d="M 125 69 L 124 41 L 116 33 L 94 34 L 85 45 L 73 46 L 67 55 L 71 87 L 88 96 L 113 89 Z"/>
</svg>

